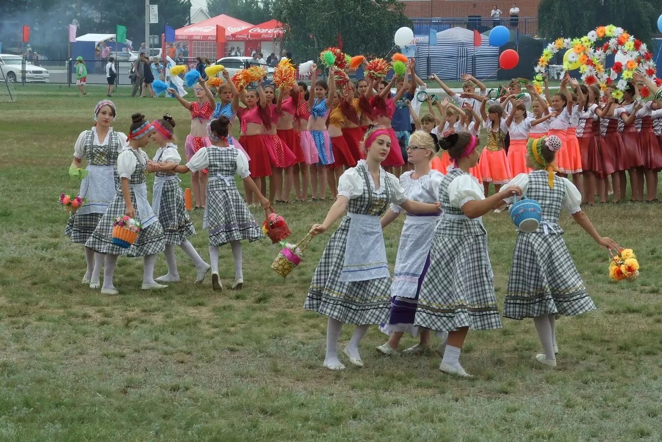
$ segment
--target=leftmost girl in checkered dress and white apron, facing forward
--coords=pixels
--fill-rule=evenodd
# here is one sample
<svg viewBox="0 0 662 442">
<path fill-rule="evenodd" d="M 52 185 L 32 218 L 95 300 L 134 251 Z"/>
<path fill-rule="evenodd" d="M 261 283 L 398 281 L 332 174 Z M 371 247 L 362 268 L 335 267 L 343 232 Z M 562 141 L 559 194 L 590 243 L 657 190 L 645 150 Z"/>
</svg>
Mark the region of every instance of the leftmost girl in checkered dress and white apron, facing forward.
<svg viewBox="0 0 662 442">
<path fill-rule="evenodd" d="M 110 100 L 99 101 L 94 111 L 95 123 L 89 131 L 83 131 L 73 146 L 73 162 L 69 168 L 71 178 L 80 178 L 83 158 L 87 161 L 87 176 L 81 180 L 79 194 L 85 203 L 71 213 L 64 234 L 71 237 L 72 243 L 85 244 L 99 224 L 99 220 L 113 201 L 119 177 L 115 173 L 117 156 L 126 144 L 126 135 L 113 131 L 113 121 L 117 111 Z M 85 247 L 87 270 L 83 284 L 99 288 L 99 274 L 103 254 Z"/>
</svg>

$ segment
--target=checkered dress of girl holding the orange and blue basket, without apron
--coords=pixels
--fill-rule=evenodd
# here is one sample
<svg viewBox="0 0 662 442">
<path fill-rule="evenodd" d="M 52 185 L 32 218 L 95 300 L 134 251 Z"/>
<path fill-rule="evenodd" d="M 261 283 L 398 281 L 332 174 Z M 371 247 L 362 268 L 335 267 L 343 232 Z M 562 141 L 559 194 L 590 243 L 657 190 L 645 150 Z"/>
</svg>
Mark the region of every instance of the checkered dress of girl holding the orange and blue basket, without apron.
<svg viewBox="0 0 662 442">
<path fill-rule="evenodd" d="M 136 170 L 131 174 L 128 180 L 129 193 L 131 195 L 131 204 L 136 210 L 136 219 L 144 221 L 144 216 L 140 214 L 140 207 L 136 201 L 136 194 L 133 186 L 138 184 L 145 184 L 147 182 L 147 164 L 146 159 L 142 158 L 133 150 L 136 155 Z M 122 195 L 122 187 L 120 186 L 115 193 L 115 198 L 111 202 L 110 207 L 103 215 L 97 228 L 85 243 L 85 247 L 89 247 L 95 252 L 105 254 L 117 254 L 126 256 L 146 256 L 148 254 L 155 254 L 163 252 L 166 249 L 164 241 L 164 231 L 161 224 L 158 222 L 148 225 L 140 230 L 138 239 L 128 249 L 122 249 L 113 244 L 113 221 L 119 216 L 124 216 L 126 213 L 126 204 L 124 203 L 124 196 Z"/>
</svg>

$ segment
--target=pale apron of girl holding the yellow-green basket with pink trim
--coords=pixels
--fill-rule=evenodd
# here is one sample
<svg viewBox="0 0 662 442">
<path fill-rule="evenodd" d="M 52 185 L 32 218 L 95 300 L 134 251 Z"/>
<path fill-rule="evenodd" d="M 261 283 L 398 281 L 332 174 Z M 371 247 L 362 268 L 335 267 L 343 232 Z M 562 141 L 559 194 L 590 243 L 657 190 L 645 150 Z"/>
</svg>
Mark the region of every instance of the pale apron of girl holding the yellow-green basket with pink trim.
<svg viewBox="0 0 662 442">
<path fill-rule="evenodd" d="M 390 278 L 379 217 L 352 212 L 347 216 L 350 217 L 350 229 L 340 281 Z"/>
</svg>

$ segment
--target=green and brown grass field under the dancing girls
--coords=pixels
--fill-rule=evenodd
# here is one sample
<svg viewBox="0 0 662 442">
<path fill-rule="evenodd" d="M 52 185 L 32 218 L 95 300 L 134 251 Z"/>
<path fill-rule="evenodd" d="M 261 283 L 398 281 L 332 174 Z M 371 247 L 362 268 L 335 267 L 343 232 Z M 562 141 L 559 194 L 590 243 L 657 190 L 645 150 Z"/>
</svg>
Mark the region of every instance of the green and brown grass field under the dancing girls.
<svg viewBox="0 0 662 442">
<path fill-rule="evenodd" d="M 89 87 L 81 98 L 55 85 L 17 92 L 16 103 L 0 103 L 0 440 L 662 439 L 662 205 L 587 209 L 602 235 L 638 253 L 641 276 L 632 283 L 610 282 L 606 251 L 563 219 L 598 310 L 557 322 L 556 369 L 534 366 L 532 321 L 504 319 L 500 330 L 469 333 L 462 362 L 472 380 L 442 374 L 436 356 L 378 355 L 385 335 L 377 327 L 361 345 L 365 368 L 330 372 L 320 368 L 326 320 L 302 308 L 328 234 L 312 241 L 286 280 L 269 268 L 278 249 L 263 240 L 244 245 L 244 290 L 212 292 L 209 279 L 194 285 L 195 269 L 178 251 L 183 282 L 141 292 L 142 261 L 121 258 L 120 296 L 101 296 L 80 283 L 83 249 L 62 234 L 67 214 L 57 199 L 77 190 L 67 175 L 73 142 L 105 92 Z M 168 112 L 185 138 L 183 107 L 128 95 L 125 87 L 113 97 L 116 129 L 127 131 L 134 111 L 149 119 Z M 294 239 L 327 209 L 277 206 Z M 208 256 L 201 213 L 192 217 L 193 244 Z M 401 225 L 385 233 L 391 263 Z M 485 226 L 502 302 L 516 235 L 507 213 L 487 215 Z M 220 266 L 228 286 L 228 247 Z M 165 268 L 160 256 L 156 273 Z M 350 333 L 346 327 L 341 342 Z"/>
</svg>

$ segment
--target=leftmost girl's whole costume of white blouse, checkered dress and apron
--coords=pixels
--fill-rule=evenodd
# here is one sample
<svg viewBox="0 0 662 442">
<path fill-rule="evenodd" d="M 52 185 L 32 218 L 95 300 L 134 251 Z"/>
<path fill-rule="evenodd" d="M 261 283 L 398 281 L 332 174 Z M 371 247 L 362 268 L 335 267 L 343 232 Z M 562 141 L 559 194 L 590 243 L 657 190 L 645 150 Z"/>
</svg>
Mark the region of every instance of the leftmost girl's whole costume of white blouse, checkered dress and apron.
<svg viewBox="0 0 662 442">
<path fill-rule="evenodd" d="M 119 178 L 115 170 L 117 156 L 126 144 L 126 135 L 108 129 L 99 140 L 97 128 L 83 131 L 73 146 L 73 156 L 87 160 L 87 176 L 81 180 L 79 195 L 85 203 L 69 216 L 64 234 L 72 243 L 85 244 L 115 197 Z"/>
</svg>

